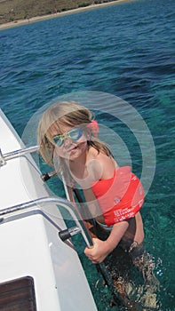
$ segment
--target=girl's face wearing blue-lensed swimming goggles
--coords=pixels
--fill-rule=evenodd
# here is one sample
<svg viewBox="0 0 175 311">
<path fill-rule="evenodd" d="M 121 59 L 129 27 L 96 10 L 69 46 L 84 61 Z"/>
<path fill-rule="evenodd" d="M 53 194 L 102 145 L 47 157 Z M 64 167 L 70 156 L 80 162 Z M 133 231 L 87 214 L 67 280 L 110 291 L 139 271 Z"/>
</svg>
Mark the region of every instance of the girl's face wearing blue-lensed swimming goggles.
<svg viewBox="0 0 175 311">
<path fill-rule="evenodd" d="M 55 141 L 55 156 L 75 161 L 86 152 L 87 138 L 80 128 L 62 125 L 61 132 L 63 134 L 60 135 L 56 125 L 52 124 L 50 132 Z"/>
</svg>

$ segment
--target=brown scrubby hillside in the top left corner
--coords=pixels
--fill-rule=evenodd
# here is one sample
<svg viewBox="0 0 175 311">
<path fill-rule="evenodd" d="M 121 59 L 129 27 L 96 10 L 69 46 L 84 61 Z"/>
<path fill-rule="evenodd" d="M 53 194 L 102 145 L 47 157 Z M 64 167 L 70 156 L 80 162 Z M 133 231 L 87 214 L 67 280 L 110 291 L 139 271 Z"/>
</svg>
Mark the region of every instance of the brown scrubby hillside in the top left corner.
<svg viewBox="0 0 175 311">
<path fill-rule="evenodd" d="M 110 1 L 111 0 L 0 0 L 0 24 Z"/>
</svg>

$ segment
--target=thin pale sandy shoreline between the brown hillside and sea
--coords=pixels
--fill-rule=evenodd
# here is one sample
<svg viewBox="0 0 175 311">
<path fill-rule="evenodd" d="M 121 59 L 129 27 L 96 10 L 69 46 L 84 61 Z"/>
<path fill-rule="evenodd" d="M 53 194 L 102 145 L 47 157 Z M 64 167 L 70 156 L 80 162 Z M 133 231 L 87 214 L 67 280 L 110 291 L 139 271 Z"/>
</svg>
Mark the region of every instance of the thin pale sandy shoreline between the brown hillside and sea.
<svg viewBox="0 0 175 311">
<path fill-rule="evenodd" d="M 65 12 L 57 12 L 57 13 L 53 13 L 53 14 L 49 14 L 49 15 L 36 16 L 36 17 L 32 17 L 32 18 L 29 18 L 26 20 L 15 20 L 15 21 L 11 21 L 9 23 L 5 23 L 5 24 L 0 25 L 0 30 L 26 25 L 28 23 L 33 23 L 33 22 L 37 22 L 40 20 L 50 20 L 50 19 L 54 19 L 54 18 L 63 16 L 63 15 L 73 14 L 76 12 L 88 11 L 91 9 L 99 8 L 101 6 L 109 6 L 109 5 L 120 4 L 123 2 L 131 2 L 131 1 L 134 1 L 134 0 L 115 0 L 115 1 L 104 3 L 104 4 L 91 4 L 91 5 L 88 5 L 85 7 L 79 7 L 77 9 L 72 9 L 72 10 L 68 10 Z"/>
</svg>

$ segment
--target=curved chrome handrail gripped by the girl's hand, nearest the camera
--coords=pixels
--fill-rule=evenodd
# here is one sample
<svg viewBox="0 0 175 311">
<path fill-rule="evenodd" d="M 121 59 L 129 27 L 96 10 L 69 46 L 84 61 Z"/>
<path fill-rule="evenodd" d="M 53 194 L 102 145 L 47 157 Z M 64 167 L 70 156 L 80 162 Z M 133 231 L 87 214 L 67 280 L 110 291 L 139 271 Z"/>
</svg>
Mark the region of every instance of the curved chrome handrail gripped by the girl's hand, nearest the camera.
<svg viewBox="0 0 175 311">
<path fill-rule="evenodd" d="M 89 234 L 86 227 L 84 226 L 84 221 L 81 218 L 81 215 L 78 213 L 78 211 L 75 210 L 75 207 L 68 200 L 63 199 L 61 197 L 47 196 L 47 197 L 42 197 L 36 200 L 29 201 L 26 203 L 20 203 L 17 205 L 13 205 L 13 206 L 10 206 L 10 207 L 7 207 L 1 210 L 0 216 L 5 216 L 15 211 L 23 211 L 23 210 L 26 210 L 28 208 L 31 208 L 31 207 L 34 207 L 36 205 L 43 204 L 43 203 L 56 203 L 64 207 L 70 213 L 70 215 L 76 222 L 76 226 L 80 228 L 81 234 L 84 237 L 84 241 L 86 245 L 88 247 L 93 246 L 92 241 L 91 241 L 91 235 Z"/>
</svg>

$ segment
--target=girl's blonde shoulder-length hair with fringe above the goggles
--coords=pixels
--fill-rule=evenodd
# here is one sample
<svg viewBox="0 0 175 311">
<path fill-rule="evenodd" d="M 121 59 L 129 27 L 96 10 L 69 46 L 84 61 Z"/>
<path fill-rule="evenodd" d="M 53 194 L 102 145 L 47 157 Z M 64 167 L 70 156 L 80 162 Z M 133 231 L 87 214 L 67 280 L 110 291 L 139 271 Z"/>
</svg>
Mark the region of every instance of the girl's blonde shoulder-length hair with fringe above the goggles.
<svg viewBox="0 0 175 311">
<path fill-rule="evenodd" d="M 76 101 L 60 101 L 48 108 L 40 119 L 37 129 L 37 143 L 39 152 L 44 158 L 45 163 L 53 166 L 53 153 L 55 148 L 54 140 L 52 140 L 51 126 L 54 124 L 58 134 L 62 134 L 61 126 L 81 126 L 91 124 L 93 114 L 88 108 L 81 106 Z M 107 145 L 94 137 L 91 128 L 86 129 L 90 132 L 90 140 L 87 140 L 88 146 L 92 146 L 102 151 L 107 156 L 111 153 Z M 62 163 L 62 161 L 61 161 Z"/>
</svg>

